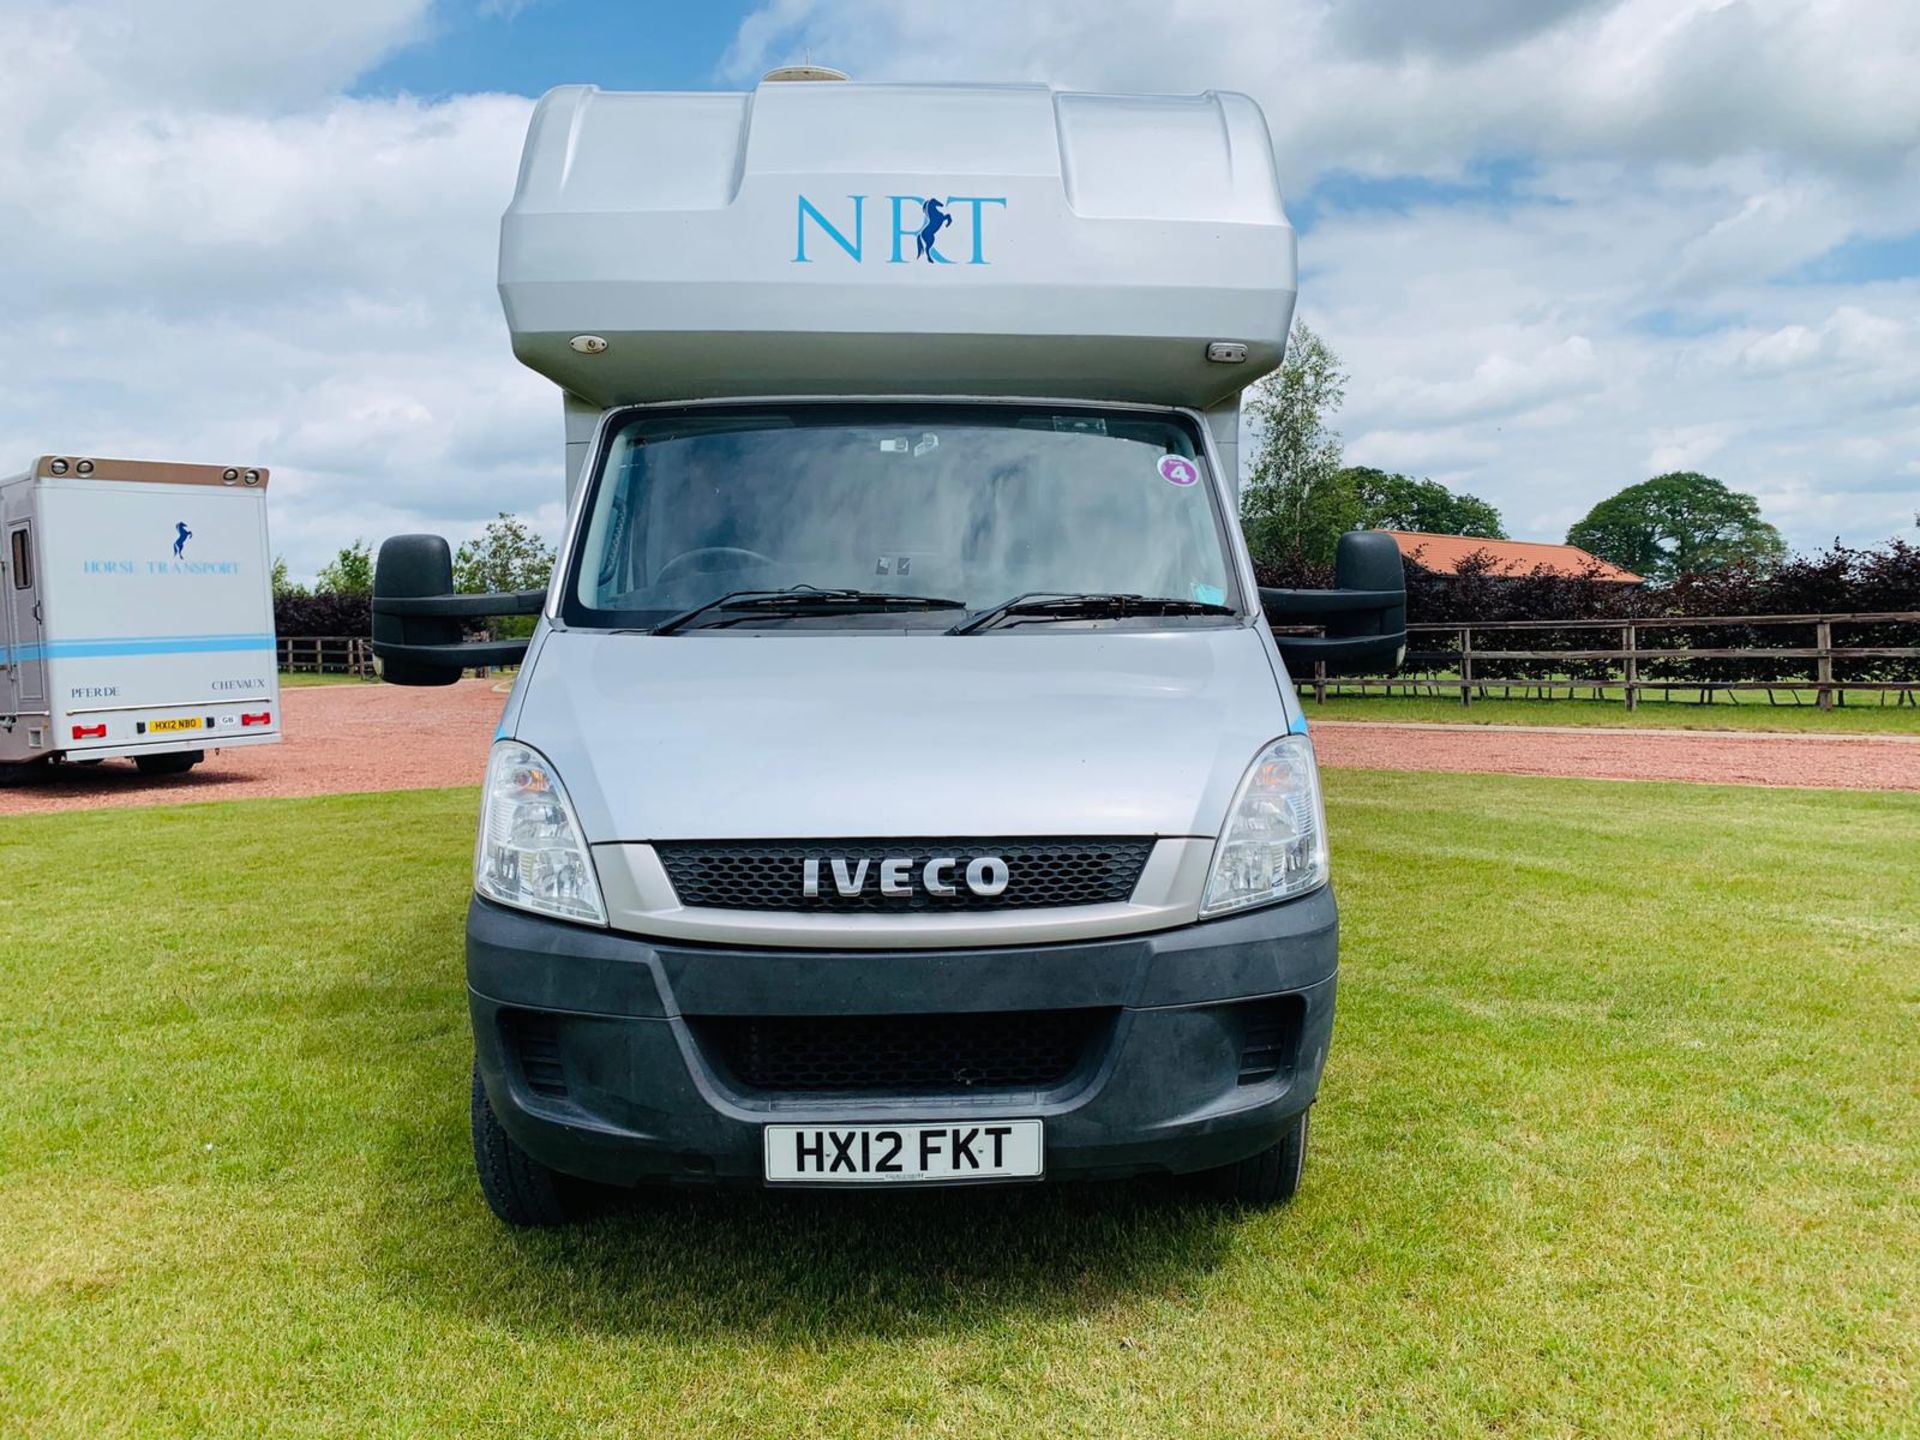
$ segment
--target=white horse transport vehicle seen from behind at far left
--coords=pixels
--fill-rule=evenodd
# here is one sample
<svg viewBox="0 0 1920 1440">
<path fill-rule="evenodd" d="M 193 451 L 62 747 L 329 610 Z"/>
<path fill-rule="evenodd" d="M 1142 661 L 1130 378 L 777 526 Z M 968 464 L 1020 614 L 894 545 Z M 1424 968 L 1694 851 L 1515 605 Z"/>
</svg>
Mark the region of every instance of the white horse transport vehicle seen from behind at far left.
<svg viewBox="0 0 1920 1440">
<path fill-rule="evenodd" d="M 42 455 L 0 528 L 0 762 L 280 739 L 267 470 Z"/>
</svg>

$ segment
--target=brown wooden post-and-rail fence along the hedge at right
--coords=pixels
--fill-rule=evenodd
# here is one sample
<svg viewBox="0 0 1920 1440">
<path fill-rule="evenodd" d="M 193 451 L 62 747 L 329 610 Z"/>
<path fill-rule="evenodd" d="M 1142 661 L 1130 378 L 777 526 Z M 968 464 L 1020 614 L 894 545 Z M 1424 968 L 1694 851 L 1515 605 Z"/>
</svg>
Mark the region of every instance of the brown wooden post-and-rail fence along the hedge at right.
<svg viewBox="0 0 1920 1440">
<path fill-rule="evenodd" d="M 1860 643 L 1860 630 L 1872 630 L 1866 639 L 1876 643 Z M 1724 632 L 1778 636 L 1782 643 L 1726 643 Z M 1617 643 L 1584 643 L 1588 637 Z M 1878 643 L 1884 639 L 1905 643 Z M 1592 699 L 1620 699 L 1634 710 L 1649 691 L 1665 699 L 1693 691 L 1701 703 L 1720 691 L 1766 691 L 1776 705 L 1805 705 L 1811 693 L 1822 710 L 1845 705 L 1849 693 L 1920 705 L 1920 611 L 1421 622 L 1407 626 L 1407 659 L 1394 676 L 1300 680 L 1317 701 L 1329 693 L 1452 693 L 1473 705 L 1496 693 L 1574 699 L 1592 691 Z"/>
</svg>

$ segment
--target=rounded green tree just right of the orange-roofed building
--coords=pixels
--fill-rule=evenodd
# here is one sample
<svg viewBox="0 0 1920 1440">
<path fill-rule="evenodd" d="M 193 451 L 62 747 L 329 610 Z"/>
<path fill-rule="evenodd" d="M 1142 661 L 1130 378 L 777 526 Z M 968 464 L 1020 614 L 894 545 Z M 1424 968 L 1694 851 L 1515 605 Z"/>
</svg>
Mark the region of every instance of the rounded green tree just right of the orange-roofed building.
<svg viewBox="0 0 1920 1440">
<path fill-rule="evenodd" d="M 1609 495 L 1567 532 L 1567 543 L 1647 580 L 1707 574 L 1741 561 L 1764 568 L 1788 553 L 1753 495 L 1693 470 L 1657 474 Z"/>
</svg>

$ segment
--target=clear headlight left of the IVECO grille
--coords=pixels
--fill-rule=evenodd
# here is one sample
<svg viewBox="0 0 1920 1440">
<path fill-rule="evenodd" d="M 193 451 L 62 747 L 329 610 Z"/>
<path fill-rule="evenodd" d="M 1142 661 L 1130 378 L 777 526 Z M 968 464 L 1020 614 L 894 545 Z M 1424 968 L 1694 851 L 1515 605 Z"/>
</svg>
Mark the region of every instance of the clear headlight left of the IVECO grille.
<svg viewBox="0 0 1920 1440">
<path fill-rule="evenodd" d="M 566 787 L 540 751 L 503 739 L 486 766 L 474 889 L 520 910 L 607 924 Z"/>
</svg>

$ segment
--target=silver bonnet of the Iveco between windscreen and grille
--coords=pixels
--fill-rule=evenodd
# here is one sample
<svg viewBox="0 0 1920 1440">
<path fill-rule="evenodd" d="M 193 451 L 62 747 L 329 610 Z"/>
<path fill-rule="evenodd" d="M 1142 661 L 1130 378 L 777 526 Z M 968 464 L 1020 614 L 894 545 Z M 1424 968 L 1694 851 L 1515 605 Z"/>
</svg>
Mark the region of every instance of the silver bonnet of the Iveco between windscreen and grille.
<svg viewBox="0 0 1920 1440">
<path fill-rule="evenodd" d="M 1217 833 L 1290 724 L 1252 624 L 983 636 L 553 630 L 515 737 L 589 845 Z"/>
</svg>

